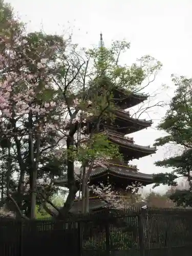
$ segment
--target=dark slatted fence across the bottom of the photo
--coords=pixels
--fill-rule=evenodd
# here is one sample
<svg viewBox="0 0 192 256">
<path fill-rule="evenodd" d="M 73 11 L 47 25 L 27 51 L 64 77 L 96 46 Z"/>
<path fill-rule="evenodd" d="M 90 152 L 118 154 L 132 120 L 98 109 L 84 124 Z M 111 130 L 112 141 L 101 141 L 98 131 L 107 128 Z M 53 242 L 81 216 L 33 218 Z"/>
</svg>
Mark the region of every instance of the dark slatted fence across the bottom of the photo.
<svg viewBox="0 0 192 256">
<path fill-rule="evenodd" d="M 189 256 L 192 210 L 126 209 L 53 219 L 0 219 L 1 256 Z"/>
</svg>

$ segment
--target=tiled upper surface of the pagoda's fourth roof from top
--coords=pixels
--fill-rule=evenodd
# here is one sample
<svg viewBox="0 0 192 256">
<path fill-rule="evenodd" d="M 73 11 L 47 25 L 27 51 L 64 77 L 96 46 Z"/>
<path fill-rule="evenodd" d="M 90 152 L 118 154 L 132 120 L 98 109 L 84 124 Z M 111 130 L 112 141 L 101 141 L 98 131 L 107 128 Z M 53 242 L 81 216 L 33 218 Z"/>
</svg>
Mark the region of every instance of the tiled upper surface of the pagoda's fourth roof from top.
<svg viewBox="0 0 192 256">
<path fill-rule="evenodd" d="M 80 167 L 75 167 L 75 180 L 80 182 Z M 107 167 L 97 166 L 90 174 L 90 181 L 94 182 L 94 179 L 103 176 L 117 176 L 121 179 L 138 181 L 145 185 L 151 184 L 153 180 L 152 174 L 144 174 L 138 172 L 138 169 L 134 165 L 120 165 L 115 163 L 108 163 Z M 58 186 L 67 187 L 68 179 L 67 174 L 61 178 L 54 180 L 54 184 Z"/>
</svg>

